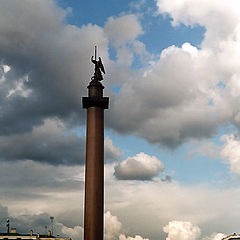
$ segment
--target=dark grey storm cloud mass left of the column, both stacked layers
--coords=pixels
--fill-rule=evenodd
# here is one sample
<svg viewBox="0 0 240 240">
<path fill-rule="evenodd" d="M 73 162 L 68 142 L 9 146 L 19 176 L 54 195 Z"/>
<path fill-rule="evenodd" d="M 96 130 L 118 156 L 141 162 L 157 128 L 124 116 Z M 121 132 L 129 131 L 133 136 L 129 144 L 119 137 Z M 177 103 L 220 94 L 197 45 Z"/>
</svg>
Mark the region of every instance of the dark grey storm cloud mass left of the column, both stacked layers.
<svg viewBox="0 0 240 240">
<path fill-rule="evenodd" d="M 65 24 L 67 13 L 53 0 L 0 1 L 2 160 L 84 161 L 84 140 L 68 129 L 84 123 L 81 97 L 93 73 L 91 39 L 102 55 L 107 39 L 96 25 Z M 54 131 L 45 124 L 49 118 L 64 127 Z M 106 159 L 116 159 L 116 154 L 106 147 Z"/>
</svg>

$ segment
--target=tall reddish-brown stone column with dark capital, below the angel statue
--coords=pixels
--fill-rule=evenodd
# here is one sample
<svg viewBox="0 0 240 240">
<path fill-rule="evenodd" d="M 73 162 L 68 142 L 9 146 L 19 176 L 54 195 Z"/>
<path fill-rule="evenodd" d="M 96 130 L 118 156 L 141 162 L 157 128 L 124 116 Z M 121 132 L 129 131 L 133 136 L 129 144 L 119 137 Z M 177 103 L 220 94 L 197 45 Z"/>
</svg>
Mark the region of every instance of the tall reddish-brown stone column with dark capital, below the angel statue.
<svg viewBox="0 0 240 240">
<path fill-rule="evenodd" d="M 83 97 L 87 109 L 84 240 L 103 240 L 104 230 L 104 109 L 103 85 L 96 80 Z"/>
</svg>

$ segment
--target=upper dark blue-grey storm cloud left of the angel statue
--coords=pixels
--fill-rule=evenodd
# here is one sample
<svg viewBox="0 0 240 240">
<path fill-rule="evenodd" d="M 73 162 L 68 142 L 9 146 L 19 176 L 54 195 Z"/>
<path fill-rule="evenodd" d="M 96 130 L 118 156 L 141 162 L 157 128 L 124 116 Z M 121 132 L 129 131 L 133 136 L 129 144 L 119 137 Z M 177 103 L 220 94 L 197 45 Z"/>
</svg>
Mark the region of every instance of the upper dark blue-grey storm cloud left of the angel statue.
<svg viewBox="0 0 240 240">
<path fill-rule="evenodd" d="M 97 26 L 64 24 L 66 14 L 52 0 L 0 2 L 0 60 L 11 67 L 0 86 L 1 135 L 30 131 L 46 117 L 73 121 L 82 114 L 93 68 L 89 40 L 104 51 L 106 39 Z"/>
</svg>

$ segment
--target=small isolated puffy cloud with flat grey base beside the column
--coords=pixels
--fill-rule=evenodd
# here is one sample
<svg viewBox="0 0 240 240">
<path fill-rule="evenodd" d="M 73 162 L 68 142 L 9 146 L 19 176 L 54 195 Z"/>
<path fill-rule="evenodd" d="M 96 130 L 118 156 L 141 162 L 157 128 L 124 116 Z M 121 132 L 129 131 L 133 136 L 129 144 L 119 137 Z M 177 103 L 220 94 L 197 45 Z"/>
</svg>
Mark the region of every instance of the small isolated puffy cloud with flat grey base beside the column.
<svg viewBox="0 0 240 240">
<path fill-rule="evenodd" d="M 163 169 L 163 163 L 155 156 L 141 152 L 119 163 L 114 175 L 122 180 L 152 180 Z"/>
</svg>

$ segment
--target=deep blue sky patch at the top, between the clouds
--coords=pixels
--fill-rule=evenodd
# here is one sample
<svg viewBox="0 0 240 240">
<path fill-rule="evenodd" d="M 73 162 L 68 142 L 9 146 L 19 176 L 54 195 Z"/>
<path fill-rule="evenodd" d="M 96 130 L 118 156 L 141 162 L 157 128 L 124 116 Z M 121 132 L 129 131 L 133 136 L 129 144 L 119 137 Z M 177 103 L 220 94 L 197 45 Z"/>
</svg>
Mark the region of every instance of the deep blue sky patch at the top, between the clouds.
<svg viewBox="0 0 240 240">
<path fill-rule="evenodd" d="M 172 27 L 169 15 L 156 15 L 157 7 L 155 1 L 138 3 L 137 1 L 57 1 L 58 4 L 67 9 L 71 8 L 72 14 L 67 18 L 68 23 L 81 26 L 89 23 L 104 26 L 111 16 L 134 13 L 141 15 L 141 23 L 144 32 L 140 40 L 146 44 L 147 50 L 151 53 L 161 52 L 169 45 L 181 46 L 184 42 L 190 42 L 199 46 L 203 39 L 204 27 L 194 27 L 181 24 L 179 27 Z M 139 5 L 139 8 L 136 6 Z"/>
</svg>

